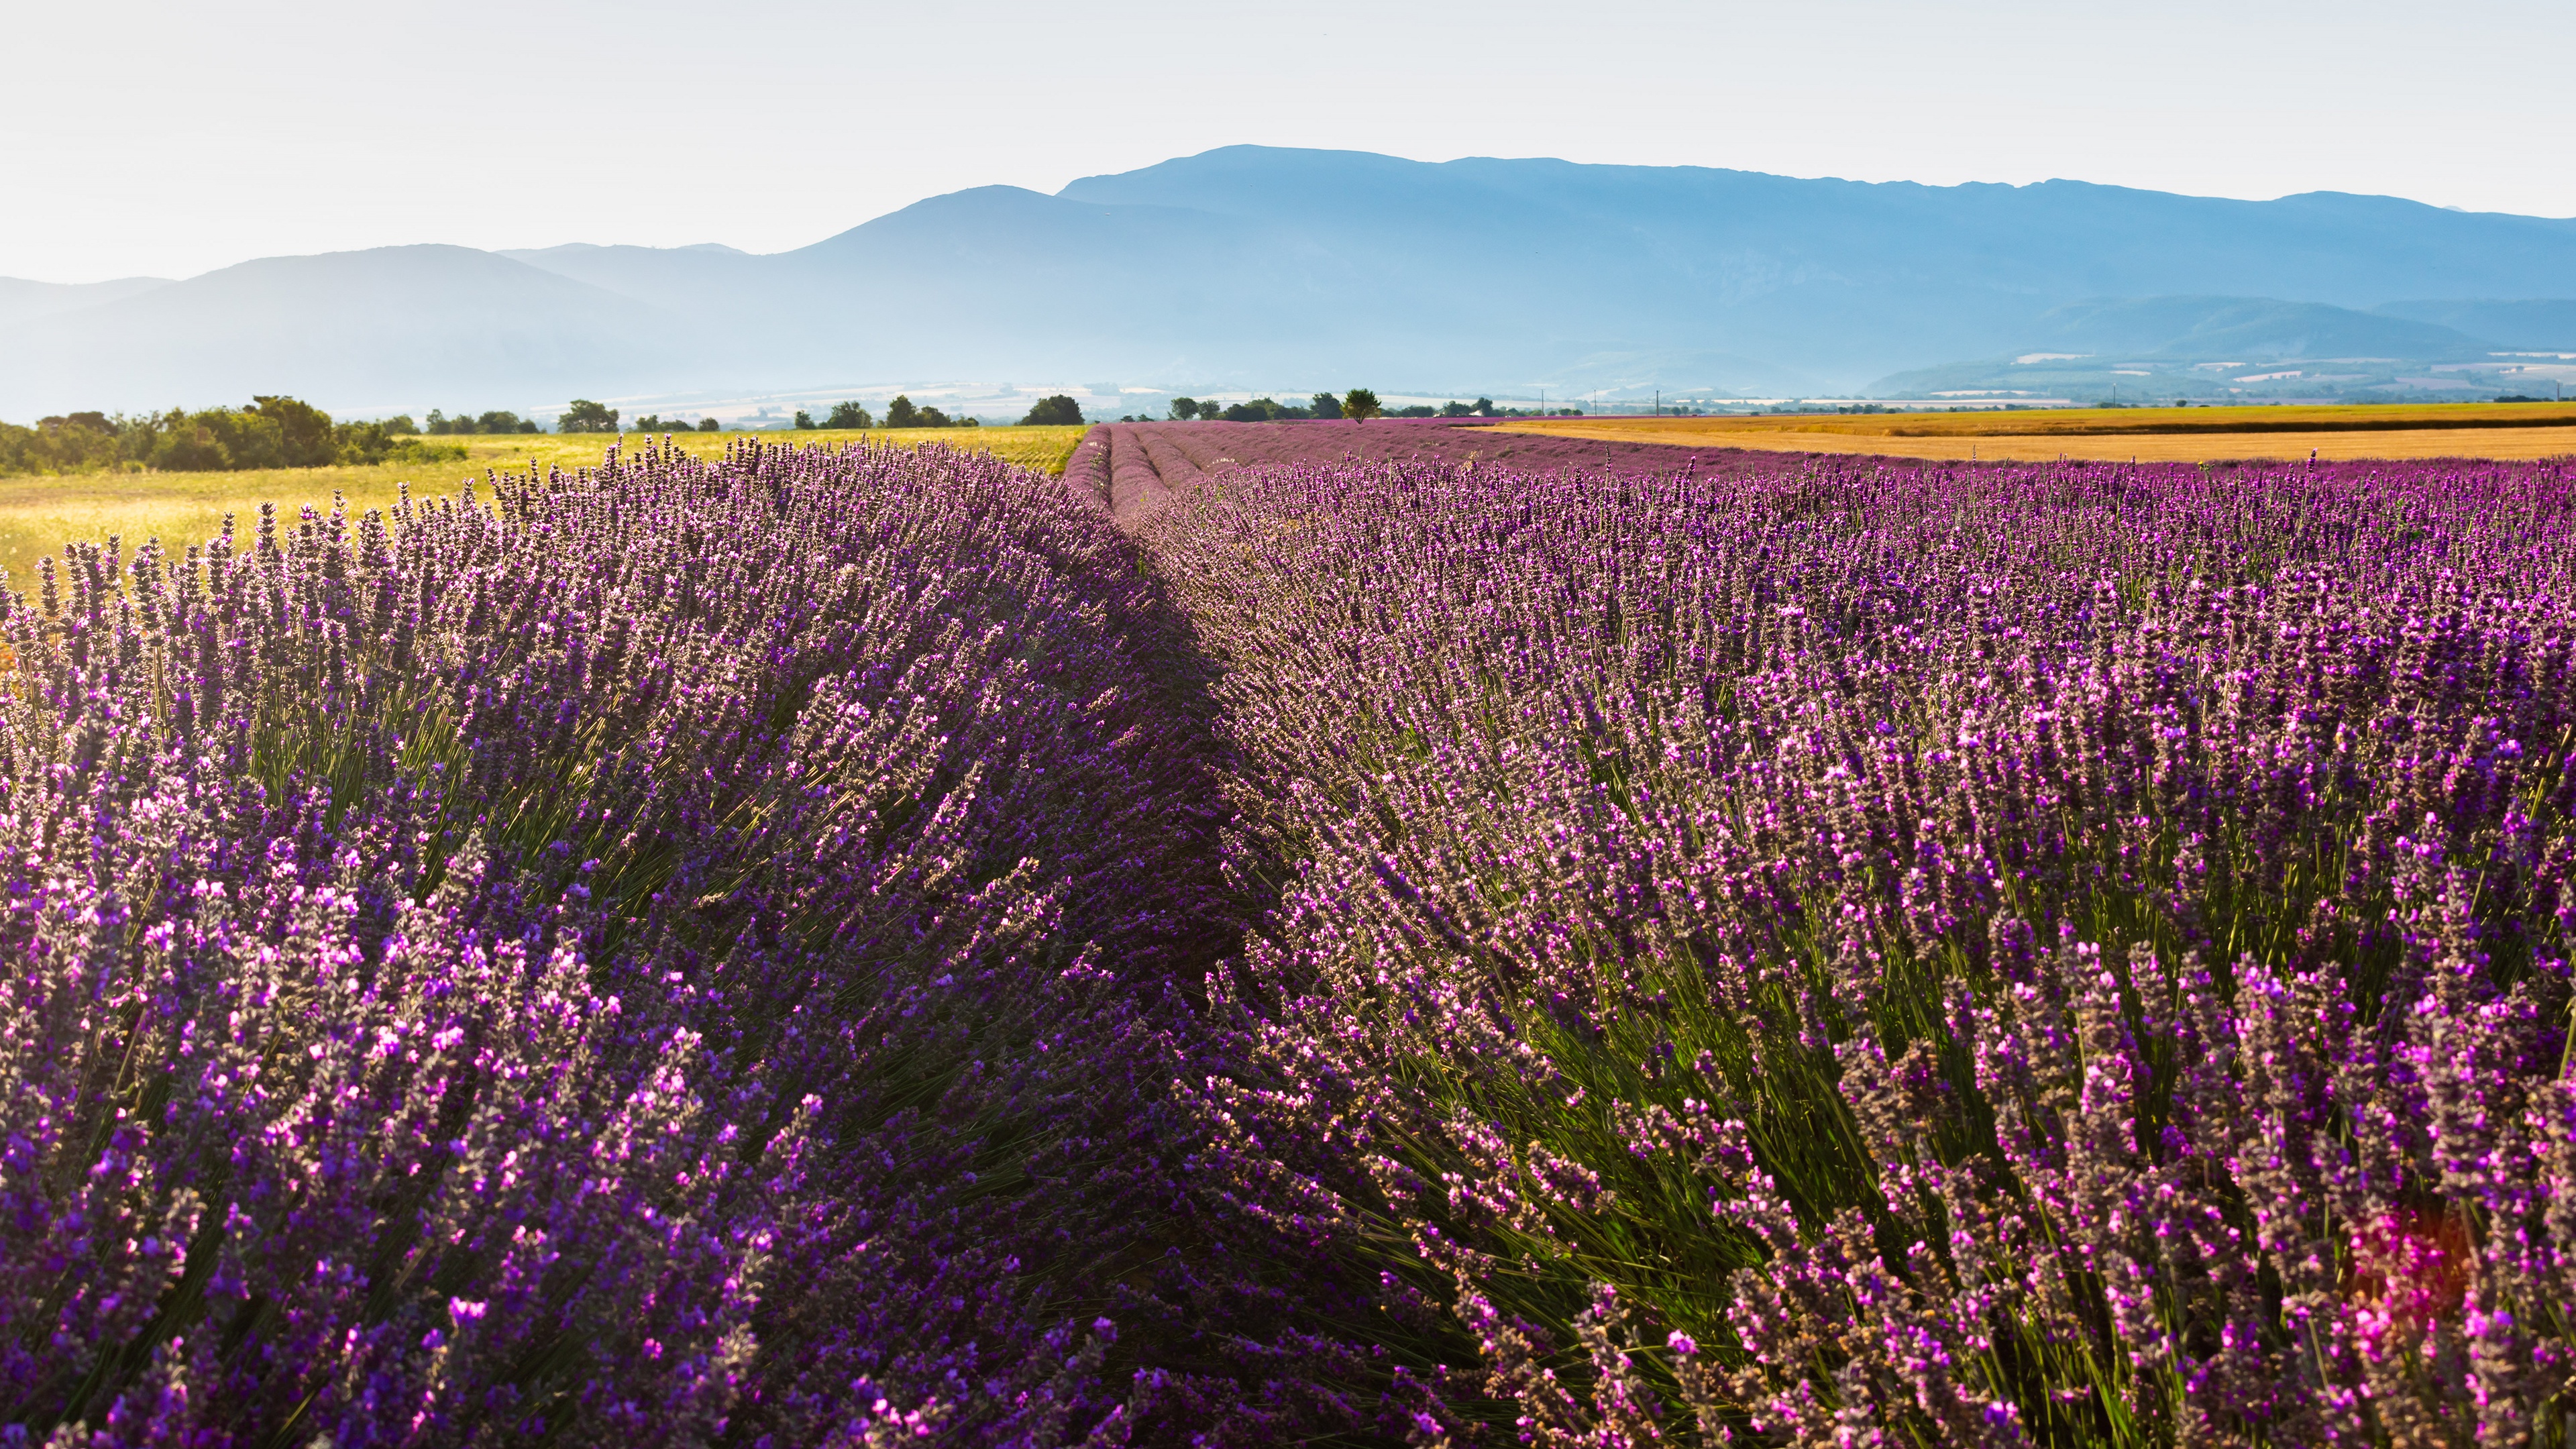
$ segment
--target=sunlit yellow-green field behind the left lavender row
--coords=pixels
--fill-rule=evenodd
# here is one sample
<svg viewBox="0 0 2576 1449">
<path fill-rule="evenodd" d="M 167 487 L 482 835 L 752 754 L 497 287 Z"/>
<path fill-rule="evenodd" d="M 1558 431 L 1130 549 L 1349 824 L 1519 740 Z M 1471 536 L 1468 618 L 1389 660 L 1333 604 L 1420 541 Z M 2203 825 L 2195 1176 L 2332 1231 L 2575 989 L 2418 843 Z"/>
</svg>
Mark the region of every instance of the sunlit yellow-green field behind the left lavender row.
<svg viewBox="0 0 2576 1449">
<path fill-rule="evenodd" d="M 742 433 L 672 433 L 690 456 L 714 456 Z M 1082 428 L 902 428 L 902 431 L 814 431 L 755 433 L 768 443 L 848 443 L 873 446 L 943 443 L 951 449 L 997 454 L 1020 467 L 1064 472 L 1064 459 L 1082 441 Z M 428 438 L 464 443 L 464 462 L 376 464 L 376 467 L 286 467 L 247 472 L 88 472 L 64 477 L 0 477 L 0 567 L 8 588 L 36 588 L 36 559 L 59 554 L 64 541 L 106 541 L 121 534 L 126 549 L 160 539 L 170 549 L 206 541 L 224 531 L 224 513 L 240 516 L 247 534 L 260 503 L 276 503 L 294 518 L 312 503 L 330 511 L 330 495 L 348 498 L 350 513 L 389 508 L 410 482 L 415 495 L 451 492 L 459 480 L 484 469 L 587 467 L 613 438 L 600 433 L 502 433 L 469 438 Z"/>
</svg>

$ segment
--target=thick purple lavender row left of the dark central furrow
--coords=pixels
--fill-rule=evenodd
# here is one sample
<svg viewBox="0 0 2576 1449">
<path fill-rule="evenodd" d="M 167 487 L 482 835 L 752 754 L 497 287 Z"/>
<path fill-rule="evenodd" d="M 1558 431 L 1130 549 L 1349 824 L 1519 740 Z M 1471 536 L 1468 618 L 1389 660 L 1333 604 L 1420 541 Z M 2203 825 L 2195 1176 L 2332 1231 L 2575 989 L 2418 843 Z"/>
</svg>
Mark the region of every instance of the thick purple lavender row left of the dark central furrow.
<svg viewBox="0 0 2576 1449">
<path fill-rule="evenodd" d="M 948 451 L 492 487 L 5 606 L 5 1436 L 1216 1413 L 1118 1361 L 1213 920 L 1133 547 Z"/>
</svg>

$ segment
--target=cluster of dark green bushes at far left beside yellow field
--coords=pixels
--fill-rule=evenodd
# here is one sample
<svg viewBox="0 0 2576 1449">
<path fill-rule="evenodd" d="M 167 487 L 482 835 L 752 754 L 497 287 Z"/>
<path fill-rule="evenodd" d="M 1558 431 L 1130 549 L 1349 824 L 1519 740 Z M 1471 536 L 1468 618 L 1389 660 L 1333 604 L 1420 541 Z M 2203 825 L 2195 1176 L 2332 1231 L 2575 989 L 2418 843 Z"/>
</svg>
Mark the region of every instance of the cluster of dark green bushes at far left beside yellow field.
<svg viewBox="0 0 2576 1449">
<path fill-rule="evenodd" d="M 33 428 L 0 423 L 0 474 L 232 472 L 461 456 L 461 446 L 422 443 L 410 418 L 335 423 L 330 413 L 296 397 L 252 397 L 247 407 L 198 413 L 62 413 Z"/>
</svg>

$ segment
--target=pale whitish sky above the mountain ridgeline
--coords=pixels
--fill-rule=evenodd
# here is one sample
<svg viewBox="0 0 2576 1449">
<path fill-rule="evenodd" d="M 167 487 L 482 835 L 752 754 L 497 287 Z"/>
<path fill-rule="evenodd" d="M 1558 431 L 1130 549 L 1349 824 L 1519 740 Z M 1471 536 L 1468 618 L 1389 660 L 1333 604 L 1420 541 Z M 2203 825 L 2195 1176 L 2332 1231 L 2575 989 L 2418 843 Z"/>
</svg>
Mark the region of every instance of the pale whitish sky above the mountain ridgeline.
<svg viewBox="0 0 2576 1449">
<path fill-rule="evenodd" d="M 2576 214 L 2563 0 L 0 0 L 0 276 L 786 250 L 1260 142 Z"/>
</svg>

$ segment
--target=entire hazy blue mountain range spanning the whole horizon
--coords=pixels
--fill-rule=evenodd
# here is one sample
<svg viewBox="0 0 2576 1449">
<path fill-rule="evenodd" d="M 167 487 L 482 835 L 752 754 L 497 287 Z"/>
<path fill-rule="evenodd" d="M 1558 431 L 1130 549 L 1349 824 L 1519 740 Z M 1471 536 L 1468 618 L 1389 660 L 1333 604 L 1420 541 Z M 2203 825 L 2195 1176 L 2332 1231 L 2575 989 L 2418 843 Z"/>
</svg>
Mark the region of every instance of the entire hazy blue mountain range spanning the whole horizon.
<svg viewBox="0 0 2576 1449">
<path fill-rule="evenodd" d="M 1121 379 L 1855 392 L 2025 353 L 2576 351 L 2576 219 L 1226 147 L 809 248 L 451 245 L 0 278 L 0 418 Z"/>
</svg>

